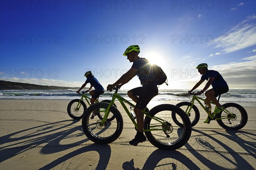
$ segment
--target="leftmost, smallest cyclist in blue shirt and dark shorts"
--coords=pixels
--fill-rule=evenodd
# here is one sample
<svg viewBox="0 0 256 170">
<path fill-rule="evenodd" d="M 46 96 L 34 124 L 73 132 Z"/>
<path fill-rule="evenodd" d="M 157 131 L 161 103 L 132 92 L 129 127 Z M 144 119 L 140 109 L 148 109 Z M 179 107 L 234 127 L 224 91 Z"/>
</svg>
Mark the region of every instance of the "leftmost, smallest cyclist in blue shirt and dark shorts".
<svg viewBox="0 0 256 170">
<path fill-rule="evenodd" d="M 84 77 L 86 77 L 86 81 L 84 82 L 84 84 L 81 86 L 81 88 L 76 91 L 76 93 L 80 93 L 80 91 L 87 85 L 87 83 L 90 83 L 90 88 L 89 90 L 86 91 L 89 92 L 91 88 L 94 88 L 95 90 L 92 90 L 89 92 L 89 94 L 92 96 L 92 98 L 90 99 L 90 103 L 93 104 L 95 103 L 95 100 L 98 99 L 99 95 L 104 93 L 104 88 L 102 87 L 102 85 L 99 83 L 99 81 L 93 76 L 91 71 L 87 71 L 84 74 Z M 94 118 L 94 113 L 91 116 L 91 119 Z"/>
</svg>

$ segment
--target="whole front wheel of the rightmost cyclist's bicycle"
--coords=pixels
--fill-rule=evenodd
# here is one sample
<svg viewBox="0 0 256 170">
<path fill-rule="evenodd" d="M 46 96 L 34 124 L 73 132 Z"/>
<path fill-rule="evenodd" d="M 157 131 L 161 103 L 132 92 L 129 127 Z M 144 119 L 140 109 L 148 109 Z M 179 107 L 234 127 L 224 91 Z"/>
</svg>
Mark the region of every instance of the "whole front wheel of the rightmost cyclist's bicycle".
<svg viewBox="0 0 256 170">
<path fill-rule="evenodd" d="M 180 102 L 176 106 L 181 108 L 184 112 L 186 112 L 186 110 L 190 109 L 191 103 L 189 103 L 189 102 Z M 195 105 L 193 105 L 191 111 L 189 113 L 186 113 L 186 114 L 189 116 L 191 126 L 192 127 L 195 126 L 198 123 L 199 119 L 200 119 L 200 112 L 199 112 L 198 108 Z M 178 125 L 180 127 L 183 126 L 182 121 L 177 119 L 175 112 L 172 112 L 172 119 L 176 123 L 176 125 Z"/>
</svg>

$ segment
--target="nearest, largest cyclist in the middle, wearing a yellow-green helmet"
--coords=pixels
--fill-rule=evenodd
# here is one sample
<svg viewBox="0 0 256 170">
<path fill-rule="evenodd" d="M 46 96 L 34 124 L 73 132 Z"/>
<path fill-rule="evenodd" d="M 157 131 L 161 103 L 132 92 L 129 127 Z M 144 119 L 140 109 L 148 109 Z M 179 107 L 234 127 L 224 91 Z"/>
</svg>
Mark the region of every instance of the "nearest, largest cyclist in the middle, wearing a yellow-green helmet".
<svg viewBox="0 0 256 170">
<path fill-rule="evenodd" d="M 118 86 L 119 88 L 129 82 L 136 75 L 139 77 L 142 87 L 134 88 L 128 91 L 128 96 L 136 102 L 134 108 L 134 113 L 137 117 L 138 131 L 133 140 L 129 144 L 137 146 L 140 142 L 146 141 L 146 136 L 143 133 L 143 115 L 141 111 L 146 108 L 150 100 L 158 94 L 158 88 L 155 81 L 151 81 L 148 77 L 151 77 L 150 73 L 150 64 L 147 59 L 139 57 L 140 47 L 139 45 L 129 46 L 125 52 L 124 56 L 127 56 L 127 59 L 130 62 L 133 62 L 131 69 L 128 70 L 125 74 L 122 75 L 114 84 L 110 84 L 107 87 L 107 90 L 111 90 L 114 87 Z M 146 108 L 147 109 L 147 108 Z"/>
</svg>

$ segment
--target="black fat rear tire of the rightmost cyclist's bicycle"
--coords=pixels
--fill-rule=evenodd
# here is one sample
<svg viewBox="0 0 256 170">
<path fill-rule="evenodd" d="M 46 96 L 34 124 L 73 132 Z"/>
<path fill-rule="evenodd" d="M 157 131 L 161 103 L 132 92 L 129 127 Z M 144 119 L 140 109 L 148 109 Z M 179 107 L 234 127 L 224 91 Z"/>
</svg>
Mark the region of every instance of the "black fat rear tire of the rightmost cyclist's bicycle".
<svg viewBox="0 0 256 170">
<path fill-rule="evenodd" d="M 248 120 L 248 115 L 245 109 L 241 105 L 236 103 L 225 103 L 223 106 L 225 110 L 231 111 L 232 113 L 236 114 L 236 119 L 230 119 L 232 123 L 235 123 L 234 126 L 227 126 L 229 125 L 227 123 L 227 119 L 218 119 L 218 118 L 221 118 L 221 116 L 227 115 L 227 113 L 222 111 L 221 113 L 216 114 L 216 118 L 217 118 L 216 121 L 221 127 L 227 130 L 239 130 L 246 125 Z M 234 108 L 236 108 L 236 110 Z M 238 121 L 237 118 L 239 118 L 240 120 Z"/>
</svg>

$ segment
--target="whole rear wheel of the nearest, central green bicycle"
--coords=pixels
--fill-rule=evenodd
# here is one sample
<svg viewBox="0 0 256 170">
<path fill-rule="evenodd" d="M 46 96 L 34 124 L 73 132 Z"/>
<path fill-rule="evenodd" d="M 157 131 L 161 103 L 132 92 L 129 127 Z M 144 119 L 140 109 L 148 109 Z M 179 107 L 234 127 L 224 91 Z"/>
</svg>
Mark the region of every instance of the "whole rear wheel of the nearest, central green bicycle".
<svg viewBox="0 0 256 170">
<path fill-rule="evenodd" d="M 172 112 L 175 112 L 176 117 L 179 116 L 179 119 L 182 120 L 183 127 L 178 127 L 175 124 L 172 119 Z M 182 109 L 175 105 L 162 104 L 152 108 L 148 114 L 161 121 L 148 116 L 145 117 L 144 121 L 145 135 L 155 147 L 163 150 L 175 150 L 188 142 L 192 127 L 189 117 Z"/>
</svg>

